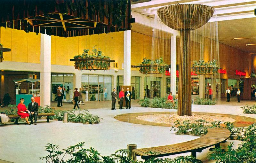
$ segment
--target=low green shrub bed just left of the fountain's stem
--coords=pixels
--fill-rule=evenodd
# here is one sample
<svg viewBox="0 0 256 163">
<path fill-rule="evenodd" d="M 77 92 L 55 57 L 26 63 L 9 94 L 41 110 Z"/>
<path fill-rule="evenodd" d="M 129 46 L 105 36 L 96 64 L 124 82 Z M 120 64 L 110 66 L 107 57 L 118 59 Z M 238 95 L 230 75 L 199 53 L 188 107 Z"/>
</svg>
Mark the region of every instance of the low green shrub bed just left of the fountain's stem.
<svg viewBox="0 0 256 163">
<path fill-rule="evenodd" d="M 175 99 L 175 95 L 173 95 Z M 173 100 L 174 105 L 171 101 L 167 100 L 167 97 L 155 97 L 153 99 L 144 98 L 140 99 L 137 103 L 140 104 L 141 107 L 154 107 L 154 108 L 165 108 L 165 109 L 178 109 L 178 101 Z"/>
</svg>

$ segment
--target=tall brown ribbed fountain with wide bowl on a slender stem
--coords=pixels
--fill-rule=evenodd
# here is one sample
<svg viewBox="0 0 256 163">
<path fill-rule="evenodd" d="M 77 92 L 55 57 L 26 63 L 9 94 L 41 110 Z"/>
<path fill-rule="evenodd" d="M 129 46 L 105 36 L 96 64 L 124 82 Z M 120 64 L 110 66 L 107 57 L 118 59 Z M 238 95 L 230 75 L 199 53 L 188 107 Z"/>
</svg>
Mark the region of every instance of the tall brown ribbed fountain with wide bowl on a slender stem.
<svg viewBox="0 0 256 163">
<path fill-rule="evenodd" d="M 213 13 L 211 6 L 202 4 L 174 4 L 157 11 L 164 24 L 180 31 L 178 115 L 192 115 L 190 31 L 202 27 Z"/>
</svg>

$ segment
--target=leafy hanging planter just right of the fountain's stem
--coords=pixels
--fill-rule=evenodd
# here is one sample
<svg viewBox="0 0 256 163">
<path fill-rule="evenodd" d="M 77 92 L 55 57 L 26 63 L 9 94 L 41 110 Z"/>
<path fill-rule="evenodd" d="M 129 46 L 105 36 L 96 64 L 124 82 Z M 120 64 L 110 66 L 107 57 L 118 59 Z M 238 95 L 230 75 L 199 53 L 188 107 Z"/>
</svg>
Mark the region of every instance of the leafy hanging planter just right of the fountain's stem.
<svg viewBox="0 0 256 163">
<path fill-rule="evenodd" d="M 204 60 L 199 59 L 199 61 L 193 61 L 192 70 L 198 75 L 216 75 L 220 67 L 217 65 L 216 60 L 204 62 Z"/>
</svg>

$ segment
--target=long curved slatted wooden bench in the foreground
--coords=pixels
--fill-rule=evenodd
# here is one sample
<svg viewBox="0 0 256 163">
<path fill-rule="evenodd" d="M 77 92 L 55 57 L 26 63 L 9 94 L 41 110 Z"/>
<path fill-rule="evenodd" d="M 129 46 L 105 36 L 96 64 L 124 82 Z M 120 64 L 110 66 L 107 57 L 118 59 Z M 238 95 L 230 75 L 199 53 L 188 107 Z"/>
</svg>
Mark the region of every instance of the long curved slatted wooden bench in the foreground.
<svg viewBox="0 0 256 163">
<path fill-rule="evenodd" d="M 149 159 L 149 157 L 163 157 L 187 152 L 191 152 L 191 155 L 196 157 L 196 152 L 201 152 L 205 148 L 213 145 L 215 145 L 215 148 L 220 148 L 220 143 L 225 143 L 230 134 L 230 131 L 226 128 L 209 128 L 207 134 L 195 140 L 159 147 L 135 149 L 132 152 L 136 156 L 141 156 L 141 159 L 144 160 Z M 150 154 L 149 151 L 154 152 L 154 154 Z"/>
</svg>

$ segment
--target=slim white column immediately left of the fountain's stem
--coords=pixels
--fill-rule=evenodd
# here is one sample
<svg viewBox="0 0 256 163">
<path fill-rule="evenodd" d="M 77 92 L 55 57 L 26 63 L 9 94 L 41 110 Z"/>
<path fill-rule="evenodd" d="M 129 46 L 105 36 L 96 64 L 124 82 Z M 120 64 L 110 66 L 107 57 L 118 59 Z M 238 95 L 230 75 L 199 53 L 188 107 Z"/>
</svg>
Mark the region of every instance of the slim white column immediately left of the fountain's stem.
<svg viewBox="0 0 256 163">
<path fill-rule="evenodd" d="M 171 92 L 176 94 L 176 43 L 177 35 L 171 36 Z M 178 90 L 177 90 L 178 91 Z"/>
</svg>

